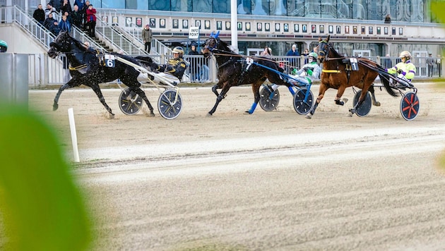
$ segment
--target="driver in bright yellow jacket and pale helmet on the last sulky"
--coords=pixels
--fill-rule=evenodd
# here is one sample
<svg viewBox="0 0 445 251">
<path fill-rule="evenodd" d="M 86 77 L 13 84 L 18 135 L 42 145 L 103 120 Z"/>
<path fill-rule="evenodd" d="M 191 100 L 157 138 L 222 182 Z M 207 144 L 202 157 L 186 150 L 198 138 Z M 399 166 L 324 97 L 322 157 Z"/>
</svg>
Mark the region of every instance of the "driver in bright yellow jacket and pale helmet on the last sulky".
<svg viewBox="0 0 445 251">
<path fill-rule="evenodd" d="M 389 74 L 398 74 L 397 87 L 410 87 L 411 80 L 413 80 L 415 76 L 415 65 L 414 63 L 411 63 L 410 51 L 402 51 L 399 57 L 401 58 L 401 62 L 396 64 L 393 68 L 386 69 L 386 71 Z"/>
</svg>

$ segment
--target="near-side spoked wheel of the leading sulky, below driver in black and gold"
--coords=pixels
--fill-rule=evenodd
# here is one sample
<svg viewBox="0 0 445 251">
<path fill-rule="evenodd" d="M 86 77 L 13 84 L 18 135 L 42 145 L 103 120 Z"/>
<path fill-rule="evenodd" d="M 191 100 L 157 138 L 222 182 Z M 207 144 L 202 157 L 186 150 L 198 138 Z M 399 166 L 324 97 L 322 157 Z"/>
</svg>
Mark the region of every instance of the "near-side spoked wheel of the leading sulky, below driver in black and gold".
<svg viewBox="0 0 445 251">
<path fill-rule="evenodd" d="M 163 118 L 173 119 L 182 111 L 182 97 L 174 89 L 162 92 L 158 99 L 158 110 Z"/>
</svg>

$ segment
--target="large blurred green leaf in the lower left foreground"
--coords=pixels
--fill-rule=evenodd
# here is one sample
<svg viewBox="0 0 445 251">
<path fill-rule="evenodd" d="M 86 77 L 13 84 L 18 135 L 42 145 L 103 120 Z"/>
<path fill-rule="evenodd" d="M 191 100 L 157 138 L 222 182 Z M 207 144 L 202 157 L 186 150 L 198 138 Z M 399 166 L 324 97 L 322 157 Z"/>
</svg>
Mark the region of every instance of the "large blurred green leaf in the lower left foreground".
<svg viewBox="0 0 445 251">
<path fill-rule="evenodd" d="M 88 247 L 90 218 L 63 156 L 42 118 L 27 107 L 1 105 L 0 216 L 6 235 L 0 235 L 0 250 Z"/>
</svg>

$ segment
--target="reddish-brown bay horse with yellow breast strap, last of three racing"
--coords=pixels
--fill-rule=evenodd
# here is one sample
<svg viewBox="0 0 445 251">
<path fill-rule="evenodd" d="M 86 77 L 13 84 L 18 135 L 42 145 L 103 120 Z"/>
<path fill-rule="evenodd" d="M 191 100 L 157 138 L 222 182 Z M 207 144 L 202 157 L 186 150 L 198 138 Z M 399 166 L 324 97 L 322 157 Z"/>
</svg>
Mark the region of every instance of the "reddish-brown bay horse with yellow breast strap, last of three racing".
<svg viewBox="0 0 445 251">
<path fill-rule="evenodd" d="M 379 73 L 372 68 L 379 69 L 380 71 L 385 71 L 385 69 L 378 63 L 375 63 L 369 59 L 353 58 L 357 59 L 357 66 L 360 67 L 357 68 L 357 71 L 352 71 L 353 69 L 350 63 L 351 58 L 340 55 L 333 47 L 333 44 L 329 43 L 330 37 L 331 36 L 328 35 L 326 39 L 321 39 L 321 37 L 319 38 L 319 44 L 317 46 L 319 51 L 318 59 L 320 63 L 323 63 L 323 70 L 321 71 L 321 84 L 319 96 L 317 97 L 311 111 L 309 111 L 309 113 L 306 115 L 306 118 L 312 118 L 316 107 L 324 97 L 324 92 L 326 92 L 326 90 L 329 88 L 338 90 L 335 102 L 340 106 L 345 104 L 345 102 L 341 101 L 340 98 L 343 96 L 346 87 L 355 86 L 362 89 L 362 93 L 360 94 L 357 104 L 355 104 L 355 106 L 349 110 L 350 116 L 355 114 L 357 108 L 364 102 L 368 91 L 371 92 L 372 95 L 372 104 L 374 104 L 374 106 L 380 106 L 380 102 L 376 101 L 374 85 L 372 85 Z M 388 79 L 383 77 L 380 79 L 384 84 L 386 92 L 391 94 L 391 96 L 396 97 L 397 94 L 392 90 Z"/>
</svg>

